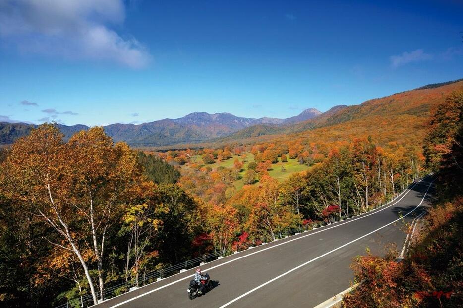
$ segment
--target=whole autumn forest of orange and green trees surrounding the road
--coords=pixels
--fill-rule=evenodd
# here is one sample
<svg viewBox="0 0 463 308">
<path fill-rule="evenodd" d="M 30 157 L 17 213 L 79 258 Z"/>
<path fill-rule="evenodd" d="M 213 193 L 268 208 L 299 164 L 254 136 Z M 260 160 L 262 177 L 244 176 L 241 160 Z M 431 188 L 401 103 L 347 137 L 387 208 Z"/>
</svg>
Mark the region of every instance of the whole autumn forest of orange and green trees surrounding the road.
<svg viewBox="0 0 463 308">
<path fill-rule="evenodd" d="M 90 306 L 155 281 L 154 271 L 365 213 L 430 172 L 439 198 L 413 254 L 439 255 L 452 272 L 435 272 L 429 259 L 359 257 L 356 278 L 371 284 L 345 303 L 432 307 L 405 287 L 424 281 L 452 288 L 451 303 L 461 303 L 463 81 L 246 134 L 133 148 L 102 127 L 67 138 L 52 123 L 2 148 L 2 306 Z"/>
</svg>

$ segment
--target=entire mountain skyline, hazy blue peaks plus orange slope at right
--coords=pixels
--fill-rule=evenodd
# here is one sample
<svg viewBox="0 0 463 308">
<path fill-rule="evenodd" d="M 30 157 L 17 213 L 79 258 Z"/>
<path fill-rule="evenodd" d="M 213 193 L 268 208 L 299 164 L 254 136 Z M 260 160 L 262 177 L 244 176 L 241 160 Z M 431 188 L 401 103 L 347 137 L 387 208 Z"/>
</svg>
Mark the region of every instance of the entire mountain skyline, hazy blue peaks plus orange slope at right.
<svg viewBox="0 0 463 308">
<path fill-rule="evenodd" d="M 254 119 L 230 113 L 195 112 L 178 119 L 139 125 L 111 124 L 104 126 L 104 129 L 115 141 L 125 141 L 138 147 L 170 149 L 171 146 L 194 147 L 193 144 L 205 144 L 204 142 L 213 146 L 230 142 L 261 142 L 282 137 L 323 137 L 326 140 L 337 140 L 340 136 L 353 138 L 362 134 L 377 134 L 377 139 L 381 139 L 390 134 L 403 134 L 404 139 L 410 138 L 410 135 L 421 138 L 431 108 L 442 102 L 452 91 L 462 88 L 463 79 L 430 84 L 368 100 L 359 105 L 335 106 L 323 113 L 309 108 L 286 119 Z M 89 128 L 85 125 L 57 125 L 66 138 Z M 33 127 L 34 125 L 26 123 L 0 122 L 0 144 L 13 143 L 20 136 L 27 135 Z"/>
</svg>

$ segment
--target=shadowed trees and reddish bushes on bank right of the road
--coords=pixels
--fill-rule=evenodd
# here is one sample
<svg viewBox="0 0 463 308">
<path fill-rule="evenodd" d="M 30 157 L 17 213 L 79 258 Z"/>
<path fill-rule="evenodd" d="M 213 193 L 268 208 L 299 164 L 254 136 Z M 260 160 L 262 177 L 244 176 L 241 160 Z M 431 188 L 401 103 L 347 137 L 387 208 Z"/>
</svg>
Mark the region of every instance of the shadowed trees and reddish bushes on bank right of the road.
<svg viewBox="0 0 463 308">
<path fill-rule="evenodd" d="M 395 261 L 398 252 L 357 257 L 352 269 L 362 283 L 344 307 L 462 307 L 463 91 L 434 108 L 424 150 L 438 178 L 421 232 L 403 262 Z"/>
</svg>

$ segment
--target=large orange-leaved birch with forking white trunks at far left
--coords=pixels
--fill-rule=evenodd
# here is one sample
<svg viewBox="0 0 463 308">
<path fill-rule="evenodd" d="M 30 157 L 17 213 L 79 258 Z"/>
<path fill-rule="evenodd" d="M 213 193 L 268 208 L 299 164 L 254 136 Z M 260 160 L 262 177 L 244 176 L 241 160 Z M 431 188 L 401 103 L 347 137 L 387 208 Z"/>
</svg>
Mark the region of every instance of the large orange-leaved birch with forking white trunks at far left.
<svg viewBox="0 0 463 308">
<path fill-rule="evenodd" d="M 15 142 L 1 179 L 8 197 L 30 208 L 65 240 L 49 241 L 79 259 L 94 303 L 103 299 L 108 230 L 120 219 L 129 196 L 142 187 L 136 154 L 124 143 L 113 145 L 101 127 L 79 132 L 65 143 L 57 127 L 43 124 Z M 83 257 L 88 247 L 94 262 Z M 94 263 L 98 295 L 89 271 Z"/>
</svg>

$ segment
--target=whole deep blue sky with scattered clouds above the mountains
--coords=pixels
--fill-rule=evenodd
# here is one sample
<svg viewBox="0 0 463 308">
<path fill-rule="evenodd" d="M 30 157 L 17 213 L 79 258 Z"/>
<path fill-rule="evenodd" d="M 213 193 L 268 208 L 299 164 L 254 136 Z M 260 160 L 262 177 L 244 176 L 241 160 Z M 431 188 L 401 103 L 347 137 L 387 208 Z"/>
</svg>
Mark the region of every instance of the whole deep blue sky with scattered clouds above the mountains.
<svg viewBox="0 0 463 308">
<path fill-rule="evenodd" d="M 359 104 L 463 78 L 462 15 L 458 0 L 5 0 L 0 121 Z"/>
</svg>

